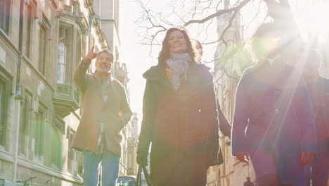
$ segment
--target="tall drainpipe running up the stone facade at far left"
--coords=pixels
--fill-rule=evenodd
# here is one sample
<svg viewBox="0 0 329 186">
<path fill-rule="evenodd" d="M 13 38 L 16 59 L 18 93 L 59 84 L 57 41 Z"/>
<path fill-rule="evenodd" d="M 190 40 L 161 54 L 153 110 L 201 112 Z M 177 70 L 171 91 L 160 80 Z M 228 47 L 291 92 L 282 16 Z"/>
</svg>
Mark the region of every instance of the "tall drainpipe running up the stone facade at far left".
<svg viewBox="0 0 329 186">
<path fill-rule="evenodd" d="M 17 73 L 16 73 L 16 90 L 15 90 L 15 108 L 17 108 L 16 113 L 16 125 L 14 127 L 14 168 L 13 168 L 13 182 L 17 178 L 17 162 L 18 162 L 18 140 L 19 140 L 19 131 L 20 131 L 20 101 L 22 101 L 22 91 L 21 91 L 21 82 L 20 82 L 20 67 L 22 66 L 22 37 L 23 37 L 23 20 L 24 20 L 24 3 L 25 0 L 20 0 L 20 25 L 19 25 L 19 37 L 18 37 L 18 62 L 17 62 Z"/>
</svg>

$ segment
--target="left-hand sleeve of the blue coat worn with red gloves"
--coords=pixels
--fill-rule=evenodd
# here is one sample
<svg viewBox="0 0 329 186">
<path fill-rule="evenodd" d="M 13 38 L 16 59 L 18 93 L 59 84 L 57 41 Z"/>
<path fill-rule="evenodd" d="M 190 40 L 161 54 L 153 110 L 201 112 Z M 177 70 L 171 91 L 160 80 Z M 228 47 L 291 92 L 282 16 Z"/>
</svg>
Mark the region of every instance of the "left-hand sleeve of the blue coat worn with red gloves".
<svg viewBox="0 0 329 186">
<path fill-rule="evenodd" d="M 245 75 L 243 75 L 236 89 L 236 105 L 234 107 L 233 125 L 231 131 L 232 155 L 247 153 L 245 129 L 249 119 L 249 97 L 245 86 Z"/>
</svg>

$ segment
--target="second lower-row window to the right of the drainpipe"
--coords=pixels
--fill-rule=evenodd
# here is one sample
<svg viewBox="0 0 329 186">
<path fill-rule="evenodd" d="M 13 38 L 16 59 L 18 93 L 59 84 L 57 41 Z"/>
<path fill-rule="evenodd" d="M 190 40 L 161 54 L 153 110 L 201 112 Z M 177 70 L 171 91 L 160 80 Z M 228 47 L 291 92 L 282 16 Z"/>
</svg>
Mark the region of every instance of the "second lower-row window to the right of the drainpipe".
<svg viewBox="0 0 329 186">
<path fill-rule="evenodd" d="M 46 123 L 46 107 L 39 104 L 39 111 L 35 114 L 34 122 L 34 140 L 32 148 L 34 149 L 34 159 L 43 161 L 44 155 L 44 126 Z M 34 145 L 33 145 L 34 144 Z"/>
</svg>

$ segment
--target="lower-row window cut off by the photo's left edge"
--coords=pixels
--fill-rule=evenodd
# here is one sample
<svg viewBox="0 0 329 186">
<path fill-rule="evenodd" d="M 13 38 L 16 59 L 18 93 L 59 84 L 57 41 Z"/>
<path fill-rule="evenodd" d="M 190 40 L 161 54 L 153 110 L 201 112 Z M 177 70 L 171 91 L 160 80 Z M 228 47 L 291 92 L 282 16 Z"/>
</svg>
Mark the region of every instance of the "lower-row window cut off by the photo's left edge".
<svg viewBox="0 0 329 186">
<path fill-rule="evenodd" d="M 0 69 L 1 70 L 1 69 Z M 11 84 L 8 76 L 0 71 L 0 146 L 6 146 L 6 123 Z"/>
</svg>

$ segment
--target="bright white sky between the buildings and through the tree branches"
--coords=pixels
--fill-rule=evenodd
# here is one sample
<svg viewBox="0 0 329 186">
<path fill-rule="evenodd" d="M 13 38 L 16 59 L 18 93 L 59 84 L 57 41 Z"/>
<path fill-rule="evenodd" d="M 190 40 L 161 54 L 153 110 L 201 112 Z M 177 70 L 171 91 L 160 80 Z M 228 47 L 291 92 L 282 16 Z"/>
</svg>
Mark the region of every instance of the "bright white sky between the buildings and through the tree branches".
<svg viewBox="0 0 329 186">
<path fill-rule="evenodd" d="M 256 15 L 257 9 L 262 9 L 261 16 L 257 18 L 245 33 L 245 37 L 249 37 L 259 23 L 264 20 L 264 13 L 266 7 L 259 6 L 259 0 L 255 0 L 252 4 L 249 4 L 243 9 L 243 22 L 247 25 L 254 16 Z M 298 1 L 298 4 L 297 4 Z M 317 2 L 325 0 L 315 0 Z M 162 11 L 165 13 L 166 7 L 170 4 L 171 0 L 152 0 L 148 1 L 148 6 L 154 11 Z M 323 29 L 323 25 L 326 23 L 326 18 L 329 17 L 328 11 L 325 10 L 325 6 L 321 8 L 309 8 L 311 7 L 309 0 L 290 0 L 292 9 L 295 12 L 295 18 L 302 32 L 311 32 L 311 27 L 319 27 L 316 32 L 321 32 L 323 35 L 328 33 L 329 26 Z M 302 5 L 301 5 L 302 4 Z M 326 4 L 327 10 L 329 3 Z M 319 11 L 320 10 L 320 11 Z M 122 41 L 120 61 L 127 63 L 129 72 L 129 92 L 131 100 L 131 110 L 138 113 L 139 123 L 142 119 L 142 102 L 143 102 L 143 91 L 145 88 L 146 80 L 143 79 L 142 74 L 148 70 L 151 66 L 157 64 L 157 54 L 160 51 L 159 47 L 153 49 L 152 56 L 149 56 L 149 50 L 146 46 L 140 44 L 140 37 L 137 32 L 140 31 L 140 27 L 136 25 L 135 21 L 141 15 L 141 8 L 137 6 L 135 1 L 132 0 L 121 0 L 120 1 L 120 39 Z M 311 15 L 311 16 L 309 16 Z M 325 23 L 325 24 L 323 24 Z M 190 36 L 195 39 L 204 39 L 205 33 L 201 34 L 197 31 L 197 27 L 193 26 L 189 28 Z M 326 30 L 326 31 L 325 31 Z M 214 41 L 217 39 L 217 21 L 214 21 L 209 27 L 208 41 Z M 204 60 L 210 61 L 214 58 L 214 52 L 216 48 L 213 46 L 204 46 Z M 209 65 L 212 67 L 212 65 Z"/>
</svg>

